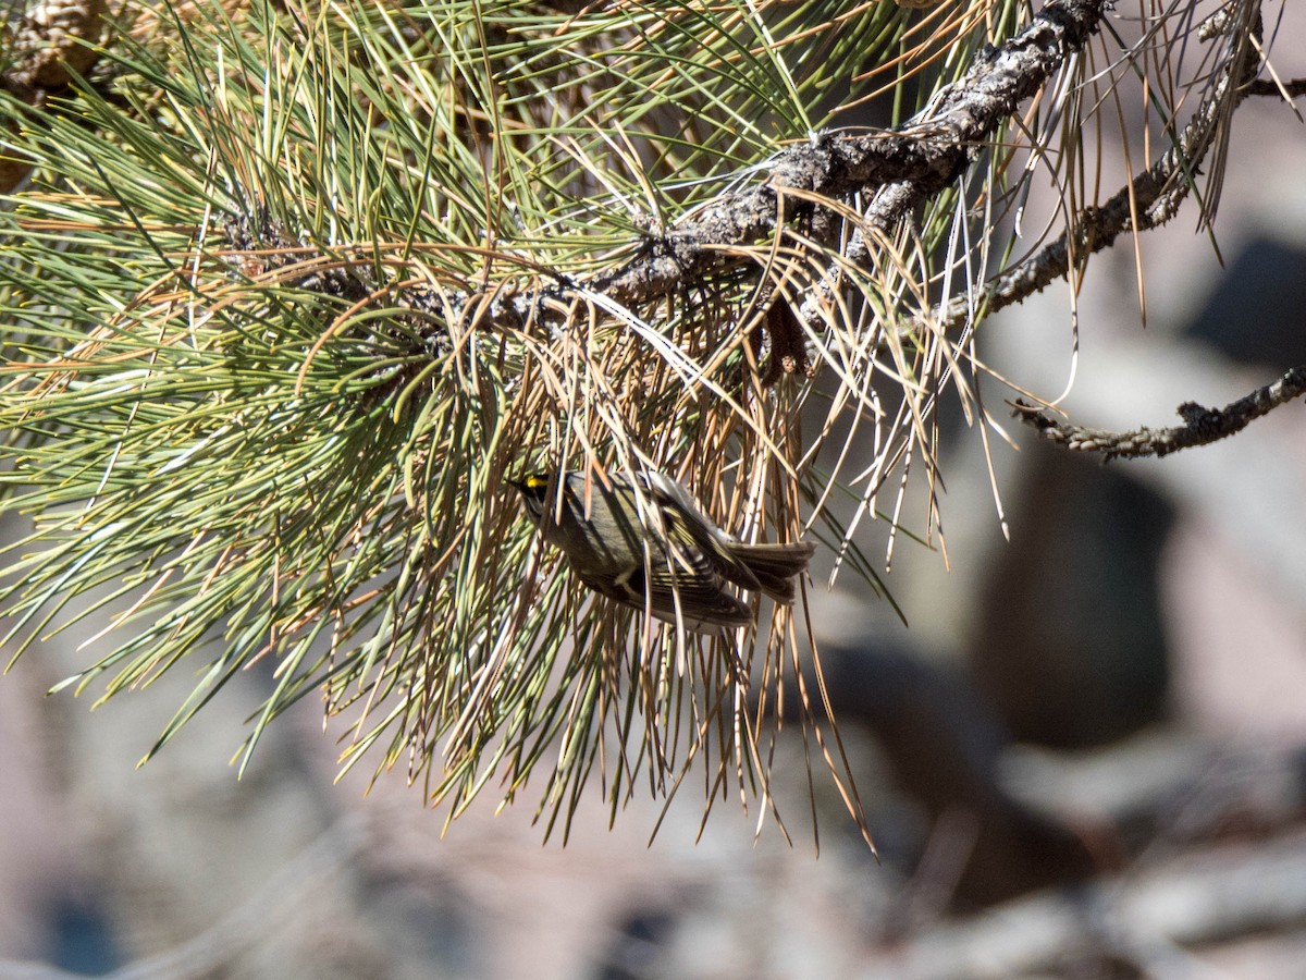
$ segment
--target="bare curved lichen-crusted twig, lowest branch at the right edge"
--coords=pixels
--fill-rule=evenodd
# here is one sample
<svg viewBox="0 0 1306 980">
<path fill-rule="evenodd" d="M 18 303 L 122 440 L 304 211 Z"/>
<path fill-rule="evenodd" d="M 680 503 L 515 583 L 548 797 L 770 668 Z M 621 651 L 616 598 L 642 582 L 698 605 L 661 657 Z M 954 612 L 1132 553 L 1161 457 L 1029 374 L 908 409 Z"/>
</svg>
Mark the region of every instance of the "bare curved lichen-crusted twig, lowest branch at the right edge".
<svg viewBox="0 0 1306 980">
<path fill-rule="evenodd" d="M 1136 429 L 1113 433 L 1106 429 L 1064 425 L 1034 405 L 1016 400 L 1015 416 L 1051 442 L 1076 452 L 1100 452 L 1104 461 L 1119 457 L 1169 456 L 1192 446 L 1207 446 L 1242 431 L 1273 409 L 1306 393 L 1306 367 L 1294 367 L 1273 384 L 1258 388 L 1222 409 L 1186 401 L 1178 412 L 1183 425 L 1173 429 Z"/>
</svg>

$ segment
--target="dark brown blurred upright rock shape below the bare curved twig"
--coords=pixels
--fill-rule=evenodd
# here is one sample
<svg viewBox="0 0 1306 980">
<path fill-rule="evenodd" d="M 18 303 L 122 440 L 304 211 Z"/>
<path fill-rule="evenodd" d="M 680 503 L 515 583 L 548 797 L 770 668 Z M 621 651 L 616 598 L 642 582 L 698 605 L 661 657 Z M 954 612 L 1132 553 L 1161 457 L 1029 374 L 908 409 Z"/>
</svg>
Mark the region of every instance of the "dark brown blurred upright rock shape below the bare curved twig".
<svg viewBox="0 0 1306 980">
<path fill-rule="evenodd" d="M 1173 510 L 1130 480 L 1041 444 L 996 553 L 970 668 L 1012 737 L 1101 745 L 1160 719 L 1169 644 L 1157 568 Z"/>
</svg>

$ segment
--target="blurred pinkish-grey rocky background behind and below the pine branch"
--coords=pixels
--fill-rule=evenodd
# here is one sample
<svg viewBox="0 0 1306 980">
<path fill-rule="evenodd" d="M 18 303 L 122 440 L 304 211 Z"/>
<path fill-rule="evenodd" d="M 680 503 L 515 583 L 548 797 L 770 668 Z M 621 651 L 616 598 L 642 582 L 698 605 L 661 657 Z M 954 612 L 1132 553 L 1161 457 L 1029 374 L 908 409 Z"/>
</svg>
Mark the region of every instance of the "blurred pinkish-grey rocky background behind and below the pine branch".
<svg viewBox="0 0 1306 980">
<path fill-rule="evenodd" d="M 1301 122 L 1245 105 L 1222 264 L 1185 212 L 1097 256 L 1074 358 L 1064 285 L 987 321 L 981 355 L 1045 397 L 1074 363 L 1066 410 L 1110 429 L 1306 365 L 1303 174 Z M 797 730 L 793 844 L 734 800 L 700 838 L 696 787 L 652 841 L 661 804 L 609 828 L 597 785 L 565 847 L 530 792 L 447 827 L 401 772 L 334 783 L 316 703 L 238 780 L 270 666 L 137 770 L 185 668 L 91 711 L 46 696 L 88 662 L 61 635 L 0 682 L 0 977 L 1306 976 L 1302 406 L 1107 466 L 1012 421 L 990 440 L 1010 542 L 952 422 L 947 562 L 900 540 L 887 579 L 909 626 L 852 575 L 808 588 L 879 861 L 819 762 L 808 802 Z"/>
</svg>

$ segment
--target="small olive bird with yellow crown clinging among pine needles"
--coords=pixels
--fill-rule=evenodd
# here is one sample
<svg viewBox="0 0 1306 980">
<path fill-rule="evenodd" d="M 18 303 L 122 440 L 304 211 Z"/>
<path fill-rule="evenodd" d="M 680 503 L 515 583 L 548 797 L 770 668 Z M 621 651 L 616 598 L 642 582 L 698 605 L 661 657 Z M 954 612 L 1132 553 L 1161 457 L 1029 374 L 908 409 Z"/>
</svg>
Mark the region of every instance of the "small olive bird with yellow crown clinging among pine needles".
<svg viewBox="0 0 1306 980">
<path fill-rule="evenodd" d="M 541 536 L 559 547 L 586 587 L 688 630 L 746 626 L 752 612 L 727 581 L 794 601 L 795 575 L 807 568 L 811 544 L 748 545 L 703 514 L 690 491 L 662 473 L 639 477 L 637 497 L 626 477 L 534 474 L 511 481 Z M 643 516 L 643 519 L 641 519 Z"/>
</svg>

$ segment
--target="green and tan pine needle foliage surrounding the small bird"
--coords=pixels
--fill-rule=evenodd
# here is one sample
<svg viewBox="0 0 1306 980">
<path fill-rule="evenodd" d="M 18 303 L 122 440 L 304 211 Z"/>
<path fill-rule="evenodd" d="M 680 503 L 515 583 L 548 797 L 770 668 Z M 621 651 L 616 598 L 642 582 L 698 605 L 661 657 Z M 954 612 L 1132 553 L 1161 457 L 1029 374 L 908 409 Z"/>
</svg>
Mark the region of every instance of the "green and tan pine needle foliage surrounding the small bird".
<svg viewBox="0 0 1306 980">
<path fill-rule="evenodd" d="M 940 399 L 995 429 L 986 284 L 1063 234 L 1055 274 L 1077 274 L 1102 133 L 1141 112 L 1179 146 L 1211 93 L 1225 124 L 1218 85 L 1260 30 L 1238 0 L 1199 43 L 1202 4 L 1144 3 L 1094 38 L 1102 4 L 1059 3 L 1087 27 L 982 140 L 837 192 L 793 179 L 801 154 L 875 139 L 867 107 L 897 125 L 961 105 L 1038 13 L 115 8 L 85 77 L 4 103 L 5 155 L 31 166 L 0 216 L 3 506 L 34 521 L 8 553 L 10 656 L 108 610 L 69 685 L 197 678 L 155 749 L 268 660 L 244 759 L 321 696 L 346 768 L 405 767 L 451 815 L 534 774 L 552 828 L 592 779 L 615 815 L 695 767 L 709 808 L 734 787 L 767 810 L 795 690 L 837 774 L 802 602 L 729 636 L 646 622 L 580 588 L 505 481 L 662 470 L 742 537 L 812 534 L 871 583 L 854 532 L 896 528 L 909 486 L 932 538 Z M 1066 204 L 1030 234 L 1012 218 L 1049 179 Z"/>
</svg>

